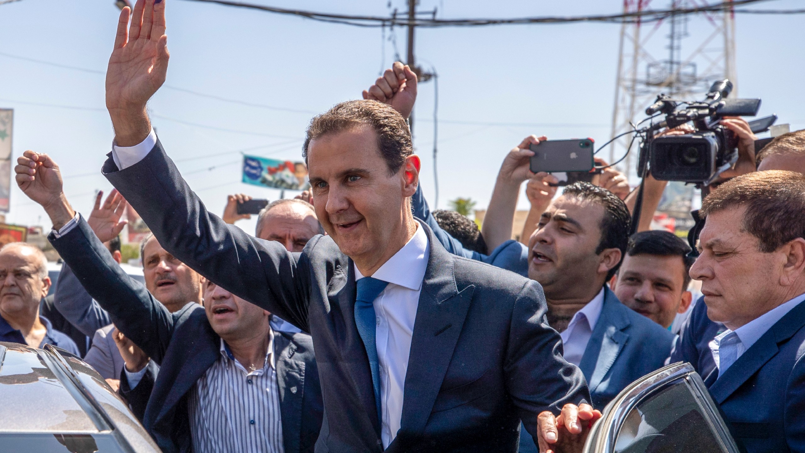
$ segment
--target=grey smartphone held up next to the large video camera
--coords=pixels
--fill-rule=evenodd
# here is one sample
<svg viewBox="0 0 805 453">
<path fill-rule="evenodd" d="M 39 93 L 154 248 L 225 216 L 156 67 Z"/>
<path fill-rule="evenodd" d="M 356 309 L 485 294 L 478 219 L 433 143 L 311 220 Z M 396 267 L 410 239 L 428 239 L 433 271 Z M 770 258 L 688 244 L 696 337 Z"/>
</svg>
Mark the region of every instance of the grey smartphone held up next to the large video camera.
<svg viewBox="0 0 805 453">
<path fill-rule="evenodd" d="M 589 172 L 595 166 L 592 159 L 593 139 L 546 140 L 532 144 L 532 172 Z"/>
</svg>

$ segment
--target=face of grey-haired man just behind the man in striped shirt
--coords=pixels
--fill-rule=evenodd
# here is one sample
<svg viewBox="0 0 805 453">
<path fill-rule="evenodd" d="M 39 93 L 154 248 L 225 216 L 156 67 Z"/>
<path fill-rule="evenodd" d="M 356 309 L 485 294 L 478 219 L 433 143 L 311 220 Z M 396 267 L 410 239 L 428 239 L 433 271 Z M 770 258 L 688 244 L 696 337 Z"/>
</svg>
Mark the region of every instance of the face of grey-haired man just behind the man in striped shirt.
<svg viewBox="0 0 805 453">
<path fill-rule="evenodd" d="M 155 237 L 142 249 L 142 274 L 148 291 L 171 313 L 199 301 L 199 274 L 168 253 Z"/>
</svg>

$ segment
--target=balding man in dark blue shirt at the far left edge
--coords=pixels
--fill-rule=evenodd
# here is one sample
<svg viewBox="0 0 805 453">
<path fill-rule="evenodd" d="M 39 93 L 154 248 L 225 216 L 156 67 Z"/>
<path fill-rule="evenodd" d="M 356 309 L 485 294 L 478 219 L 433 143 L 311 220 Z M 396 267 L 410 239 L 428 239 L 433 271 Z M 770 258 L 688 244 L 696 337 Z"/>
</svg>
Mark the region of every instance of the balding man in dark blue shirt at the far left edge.
<svg viewBox="0 0 805 453">
<path fill-rule="evenodd" d="M 39 303 L 50 286 L 47 260 L 39 248 L 27 243 L 0 248 L 0 341 L 52 344 L 78 355 L 76 343 L 39 316 Z"/>
</svg>

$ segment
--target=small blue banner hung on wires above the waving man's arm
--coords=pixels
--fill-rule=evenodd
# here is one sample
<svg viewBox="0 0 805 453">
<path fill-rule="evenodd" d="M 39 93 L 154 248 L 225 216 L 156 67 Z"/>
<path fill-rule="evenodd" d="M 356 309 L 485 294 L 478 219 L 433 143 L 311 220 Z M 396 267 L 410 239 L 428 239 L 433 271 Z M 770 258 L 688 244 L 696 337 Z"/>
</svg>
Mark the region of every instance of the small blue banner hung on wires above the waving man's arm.
<svg viewBox="0 0 805 453">
<path fill-rule="evenodd" d="M 267 159 L 260 156 L 243 156 L 244 184 L 260 185 L 271 189 L 308 189 L 308 167 L 304 162 Z"/>
</svg>

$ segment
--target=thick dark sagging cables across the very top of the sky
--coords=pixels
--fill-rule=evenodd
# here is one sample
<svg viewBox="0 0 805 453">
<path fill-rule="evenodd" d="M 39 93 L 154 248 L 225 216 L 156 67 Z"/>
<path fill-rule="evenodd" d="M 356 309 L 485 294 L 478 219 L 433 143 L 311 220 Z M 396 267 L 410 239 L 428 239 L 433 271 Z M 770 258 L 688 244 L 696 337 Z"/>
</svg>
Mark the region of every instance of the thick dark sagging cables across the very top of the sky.
<svg viewBox="0 0 805 453">
<path fill-rule="evenodd" d="M 255 5 L 253 3 L 232 2 L 229 0 L 185 0 L 188 2 L 217 3 L 224 6 L 236 6 L 253 10 L 262 10 L 280 15 L 295 15 L 305 19 L 317 20 L 327 23 L 341 23 L 355 27 L 385 27 L 388 26 L 415 26 L 415 27 L 467 27 L 467 26 L 486 26 L 486 25 L 515 25 L 515 24 L 534 24 L 534 23 L 649 23 L 667 19 L 671 15 L 691 15 L 705 12 L 716 12 L 729 10 L 744 14 L 769 14 L 766 10 L 734 10 L 735 6 L 745 6 L 751 3 L 766 2 L 768 0 L 737 0 L 734 2 L 716 3 L 713 5 L 694 6 L 690 8 L 680 8 L 671 10 L 642 10 L 634 13 L 615 14 L 615 15 L 589 15 L 589 16 L 542 16 L 542 17 L 523 17 L 512 19 L 421 19 L 408 17 L 408 15 L 396 14 L 391 16 L 373 15 L 340 15 L 332 13 L 321 13 L 307 10 L 290 10 L 277 8 L 275 6 Z M 772 14 L 798 14 L 805 12 L 791 10 L 782 13 L 774 11 Z"/>
</svg>

